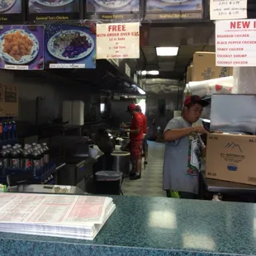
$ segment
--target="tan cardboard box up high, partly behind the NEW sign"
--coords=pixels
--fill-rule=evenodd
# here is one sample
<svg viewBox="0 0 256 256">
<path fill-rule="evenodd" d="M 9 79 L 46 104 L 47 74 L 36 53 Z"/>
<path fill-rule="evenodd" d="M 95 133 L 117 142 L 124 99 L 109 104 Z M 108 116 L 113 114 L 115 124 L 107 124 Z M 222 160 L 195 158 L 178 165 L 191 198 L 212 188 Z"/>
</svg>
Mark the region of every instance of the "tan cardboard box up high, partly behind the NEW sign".
<svg viewBox="0 0 256 256">
<path fill-rule="evenodd" d="M 192 81 L 203 81 L 233 75 L 233 68 L 216 67 L 216 54 L 196 52 L 193 55 Z"/>
</svg>

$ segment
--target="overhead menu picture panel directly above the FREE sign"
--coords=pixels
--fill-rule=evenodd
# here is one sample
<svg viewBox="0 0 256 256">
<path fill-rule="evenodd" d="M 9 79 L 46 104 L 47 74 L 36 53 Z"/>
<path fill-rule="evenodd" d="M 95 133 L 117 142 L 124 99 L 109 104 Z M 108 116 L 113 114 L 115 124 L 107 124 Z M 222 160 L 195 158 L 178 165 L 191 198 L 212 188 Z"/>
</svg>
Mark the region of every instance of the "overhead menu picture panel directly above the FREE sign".
<svg viewBox="0 0 256 256">
<path fill-rule="evenodd" d="M 87 17 L 103 20 L 140 18 L 140 0 L 88 0 Z"/>
</svg>

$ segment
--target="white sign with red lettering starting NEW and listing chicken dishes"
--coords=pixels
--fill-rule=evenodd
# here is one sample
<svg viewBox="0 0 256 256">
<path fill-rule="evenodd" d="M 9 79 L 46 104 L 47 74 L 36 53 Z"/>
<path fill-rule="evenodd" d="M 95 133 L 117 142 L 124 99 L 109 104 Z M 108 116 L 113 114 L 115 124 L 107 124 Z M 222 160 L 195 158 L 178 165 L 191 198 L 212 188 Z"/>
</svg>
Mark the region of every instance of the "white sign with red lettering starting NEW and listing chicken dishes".
<svg viewBox="0 0 256 256">
<path fill-rule="evenodd" d="M 256 66 L 256 20 L 216 21 L 216 66 Z"/>
</svg>

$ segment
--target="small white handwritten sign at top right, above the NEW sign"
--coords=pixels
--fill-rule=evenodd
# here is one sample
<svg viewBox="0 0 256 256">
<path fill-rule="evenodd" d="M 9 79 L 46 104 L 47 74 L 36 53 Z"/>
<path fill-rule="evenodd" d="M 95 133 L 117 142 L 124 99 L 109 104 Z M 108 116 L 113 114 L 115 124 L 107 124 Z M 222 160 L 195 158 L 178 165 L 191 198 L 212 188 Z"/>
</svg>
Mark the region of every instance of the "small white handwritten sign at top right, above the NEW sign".
<svg viewBox="0 0 256 256">
<path fill-rule="evenodd" d="M 211 0 L 211 20 L 232 20 L 247 18 L 247 0 Z"/>
</svg>

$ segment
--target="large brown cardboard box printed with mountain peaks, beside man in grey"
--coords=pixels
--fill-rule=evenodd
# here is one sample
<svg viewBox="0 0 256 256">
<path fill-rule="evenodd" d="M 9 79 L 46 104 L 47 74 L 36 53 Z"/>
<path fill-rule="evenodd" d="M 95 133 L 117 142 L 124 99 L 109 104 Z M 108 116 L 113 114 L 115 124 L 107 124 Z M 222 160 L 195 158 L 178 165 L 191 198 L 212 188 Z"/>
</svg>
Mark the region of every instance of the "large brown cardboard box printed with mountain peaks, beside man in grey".
<svg viewBox="0 0 256 256">
<path fill-rule="evenodd" d="M 206 178 L 256 185 L 256 136 L 209 134 Z"/>
</svg>

